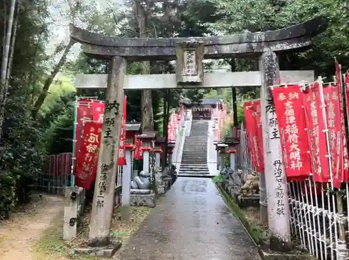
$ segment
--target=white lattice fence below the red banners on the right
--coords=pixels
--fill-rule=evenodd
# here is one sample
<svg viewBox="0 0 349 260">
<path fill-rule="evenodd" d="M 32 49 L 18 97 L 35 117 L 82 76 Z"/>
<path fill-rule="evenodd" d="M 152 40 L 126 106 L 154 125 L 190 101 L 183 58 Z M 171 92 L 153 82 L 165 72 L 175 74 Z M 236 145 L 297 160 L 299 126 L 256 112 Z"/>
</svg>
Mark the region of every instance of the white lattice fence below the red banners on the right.
<svg viewBox="0 0 349 260">
<path fill-rule="evenodd" d="M 253 171 L 244 125 L 240 130 L 237 166 Z M 349 259 L 349 188 L 334 192 L 331 183 L 291 181 L 288 184 L 290 227 L 299 247 L 320 260 Z"/>
</svg>

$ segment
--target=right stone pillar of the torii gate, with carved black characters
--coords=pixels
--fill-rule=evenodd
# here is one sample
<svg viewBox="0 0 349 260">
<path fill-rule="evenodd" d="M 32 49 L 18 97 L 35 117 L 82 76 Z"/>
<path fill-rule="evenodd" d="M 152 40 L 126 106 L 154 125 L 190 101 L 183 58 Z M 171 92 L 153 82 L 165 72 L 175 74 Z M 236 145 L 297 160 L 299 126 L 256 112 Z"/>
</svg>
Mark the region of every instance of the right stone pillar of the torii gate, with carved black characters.
<svg viewBox="0 0 349 260">
<path fill-rule="evenodd" d="M 291 237 L 287 183 L 281 155 L 279 125 L 271 90 L 268 88 L 268 86 L 278 85 L 280 82 L 279 63 L 276 54 L 271 51 L 263 53 L 260 57 L 259 66 L 262 79 L 260 100 L 270 249 L 289 251 Z"/>
</svg>

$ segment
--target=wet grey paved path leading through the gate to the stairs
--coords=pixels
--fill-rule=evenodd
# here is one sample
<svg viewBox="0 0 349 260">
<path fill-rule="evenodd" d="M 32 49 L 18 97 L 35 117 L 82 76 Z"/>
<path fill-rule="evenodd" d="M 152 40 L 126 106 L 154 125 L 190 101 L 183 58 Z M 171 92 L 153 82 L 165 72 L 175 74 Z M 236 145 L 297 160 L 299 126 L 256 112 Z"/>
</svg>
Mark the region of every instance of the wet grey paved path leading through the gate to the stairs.
<svg viewBox="0 0 349 260">
<path fill-rule="evenodd" d="M 115 256 L 122 260 L 256 260 L 258 249 L 209 178 L 177 178 Z"/>
</svg>

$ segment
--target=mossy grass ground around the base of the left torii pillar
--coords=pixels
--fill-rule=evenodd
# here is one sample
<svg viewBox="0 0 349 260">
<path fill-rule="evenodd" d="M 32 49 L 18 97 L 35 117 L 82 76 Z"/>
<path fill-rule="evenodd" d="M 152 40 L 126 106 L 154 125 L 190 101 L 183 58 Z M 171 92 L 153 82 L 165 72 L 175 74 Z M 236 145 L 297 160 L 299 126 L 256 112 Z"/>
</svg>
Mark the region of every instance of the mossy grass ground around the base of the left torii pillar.
<svg viewBox="0 0 349 260">
<path fill-rule="evenodd" d="M 121 208 L 115 208 L 110 236 L 117 238 L 125 245 L 131 235 L 140 228 L 143 220 L 149 214 L 150 208 L 145 207 L 129 207 L 129 220 L 121 220 Z M 78 228 L 77 237 L 70 241 L 62 239 L 62 223 L 63 212 L 54 220 L 54 225 L 47 229 L 42 238 L 32 248 L 36 260 L 96 260 L 97 257 L 84 257 L 82 255 L 73 254 L 73 248 L 86 245 L 89 235 L 89 208 L 87 213 L 81 218 L 82 224 Z"/>
</svg>

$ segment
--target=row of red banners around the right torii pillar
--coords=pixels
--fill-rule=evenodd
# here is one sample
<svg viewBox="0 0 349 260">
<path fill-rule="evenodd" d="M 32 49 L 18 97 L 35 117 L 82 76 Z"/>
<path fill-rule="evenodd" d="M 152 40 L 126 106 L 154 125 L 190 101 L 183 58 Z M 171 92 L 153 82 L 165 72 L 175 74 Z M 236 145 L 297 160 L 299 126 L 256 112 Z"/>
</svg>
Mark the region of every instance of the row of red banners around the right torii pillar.
<svg viewBox="0 0 349 260">
<path fill-rule="evenodd" d="M 308 89 L 300 85 L 272 89 L 285 174 L 289 181 L 332 181 L 334 188 L 349 181 L 341 74 L 336 64 L 336 84 L 315 82 Z M 345 79 L 349 108 L 349 75 Z M 264 172 L 260 100 L 244 103 L 248 148 L 252 165 Z M 348 113 L 348 112 L 347 112 Z"/>
</svg>

